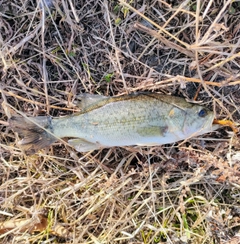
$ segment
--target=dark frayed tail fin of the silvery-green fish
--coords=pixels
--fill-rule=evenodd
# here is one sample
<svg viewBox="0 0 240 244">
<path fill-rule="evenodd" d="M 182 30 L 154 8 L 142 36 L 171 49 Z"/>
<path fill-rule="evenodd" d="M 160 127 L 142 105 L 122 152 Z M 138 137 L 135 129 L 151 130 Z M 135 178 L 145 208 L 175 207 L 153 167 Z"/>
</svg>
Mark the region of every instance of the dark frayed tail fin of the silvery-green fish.
<svg viewBox="0 0 240 244">
<path fill-rule="evenodd" d="M 9 125 L 22 138 L 18 144 L 28 155 L 34 154 L 57 141 L 56 137 L 48 133 L 48 131 L 53 132 L 50 117 L 24 118 L 14 116 L 9 119 Z"/>
</svg>

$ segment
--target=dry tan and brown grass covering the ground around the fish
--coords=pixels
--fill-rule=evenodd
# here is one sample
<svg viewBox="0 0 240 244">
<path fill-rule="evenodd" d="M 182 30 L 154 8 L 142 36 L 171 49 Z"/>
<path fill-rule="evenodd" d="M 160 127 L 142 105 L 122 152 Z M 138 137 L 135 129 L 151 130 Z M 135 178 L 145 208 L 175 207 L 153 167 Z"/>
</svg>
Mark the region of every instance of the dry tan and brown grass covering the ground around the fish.
<svg viewBox="0 0 240 244">
<path fill-rule="evenodd" d="M 45 0 L 46 1 L 46 0 Z M 38 2 L 38 3 L 36 3 Z M 239 136 L 33 156 L 7 117 L 156 91 L 240 119 L 240 2 L 0 0 L 2 243 L 240 243 Z M 46 1 L 51 3 L 51 1 Z"/>
</svg>

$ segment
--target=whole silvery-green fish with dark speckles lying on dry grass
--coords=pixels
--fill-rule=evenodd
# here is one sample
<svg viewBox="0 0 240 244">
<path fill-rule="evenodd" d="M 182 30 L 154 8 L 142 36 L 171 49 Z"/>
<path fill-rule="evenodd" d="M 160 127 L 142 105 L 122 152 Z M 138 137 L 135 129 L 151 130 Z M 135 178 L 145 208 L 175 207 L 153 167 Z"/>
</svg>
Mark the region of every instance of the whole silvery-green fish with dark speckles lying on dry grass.
<svg viewBox="0 0 240 244">
<path fill-rule="evenodd" d="M 9 125 L 27 154 L 61 138 L 79 152 L 124 146 L 158 146 L 218 128 L 214 113 L 184 98 L 159 93 L 106 97 L 82 94 L 80 112 L 64 117 L 12 116 Z"/>
</svg>

